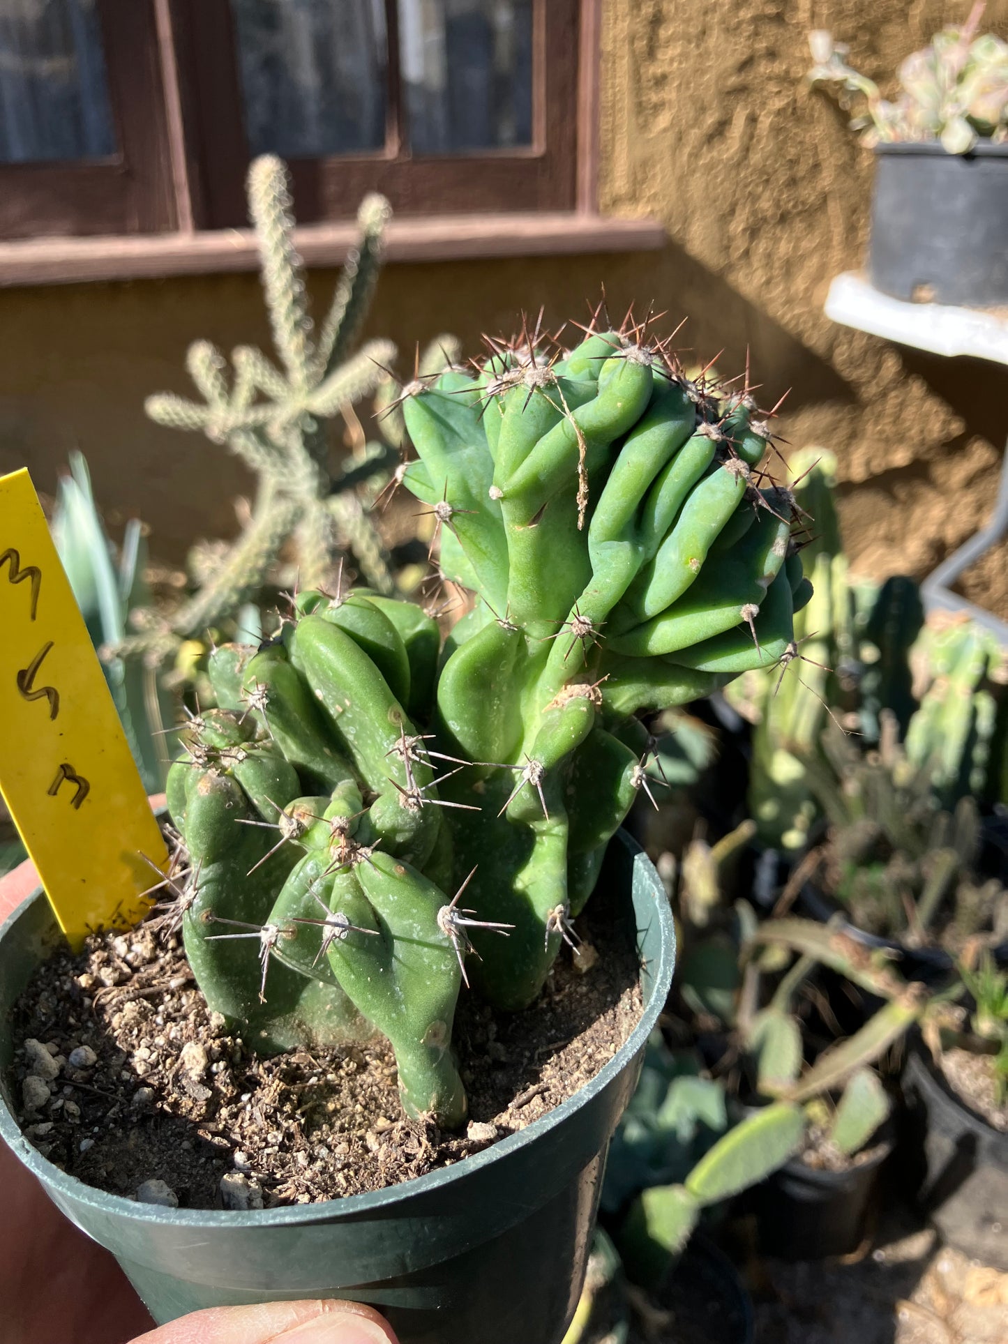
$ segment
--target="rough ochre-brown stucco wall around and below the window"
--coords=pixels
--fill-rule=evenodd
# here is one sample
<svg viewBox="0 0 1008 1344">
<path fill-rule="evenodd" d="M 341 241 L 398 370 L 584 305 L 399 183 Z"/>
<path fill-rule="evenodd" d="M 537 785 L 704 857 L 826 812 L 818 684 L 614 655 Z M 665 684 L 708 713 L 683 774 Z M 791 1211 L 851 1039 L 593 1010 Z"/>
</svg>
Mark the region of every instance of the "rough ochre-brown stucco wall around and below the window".
<svg viewBox="0 0 1008 1344">
<path fill-rule="evenodd" d="M 1008 370 L 900 351 L 827 321 L 823 300 L 864 246 L 871 155 L 802 86 L 805 32 L 831 27 L 878 78 L 949 9 L 934 0 L 606 0 L 602 208 L 652 214 L 660 253 L 390 266 L 370 327 L 402 351 L 438 331 L 470 347 L 520 308 L 585 313 L 605 284 L 689 321 L 681 340 L 753 371 L 782 433 L 839 453 L 844 526 L 862 567 L 923 573 L 986 512 L 1008 431 Z M 870 22 L 867 15 L 870 13 Z M 988 7 L 1008 36 L 1008 0 Z M 871 24 L 871 27 L 870 27 Z M 317 273 L 321 302 L 333 277 Z M 51 489 L 82 448 L 113 519 L 138 512 L 177 559 L 234 528 L 238 465 L 146 422 L 142 399 L 187 390 L 187 343 L 266 343 L 258 285 L 220 276 L 0 292 L 0 470 L 27 462 Z M 997 445 L 997 448 L 995 448 Z"/>
</svg>

